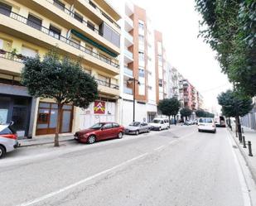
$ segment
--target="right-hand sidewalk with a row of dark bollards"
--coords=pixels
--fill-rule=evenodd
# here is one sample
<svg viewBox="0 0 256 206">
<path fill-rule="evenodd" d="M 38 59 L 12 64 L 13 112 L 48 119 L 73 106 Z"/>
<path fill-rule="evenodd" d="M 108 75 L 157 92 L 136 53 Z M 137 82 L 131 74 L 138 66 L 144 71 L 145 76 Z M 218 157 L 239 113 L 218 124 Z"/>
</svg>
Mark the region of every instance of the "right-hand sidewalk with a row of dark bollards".
<svg viewBox="0 0 256 206">
<path fill-rule="evenodd" d="M 242 155 L 244 156 L 244 159 L 247 163 L 247 165 L 249 166 L 249 170 L 251 171 L 254 181 L 256 183 L 256 131 L 249 129 L 248 127 L 243 127 L 244 128 L 244 133 L 242 133 L 242 136 L 245 137 L 245 141 L 246 141 L 246 147 L 247 148 L 243 148 L 243 143 L 239 142 L 239 137 L 235 137 L 235 131 L 234 128 L 235 126 L 232 125 L 233 131 L 230 131 L 231 134 L 234 137 L 234 141 L 237 143 L 237 145 L 239 146 L 239 150 L 241 151 Z M 249 156 L 249 150 L 248 150 L 248 141 L 251 141 L 252 143 L 252 153 L 253 156 Z"/>
</svg>

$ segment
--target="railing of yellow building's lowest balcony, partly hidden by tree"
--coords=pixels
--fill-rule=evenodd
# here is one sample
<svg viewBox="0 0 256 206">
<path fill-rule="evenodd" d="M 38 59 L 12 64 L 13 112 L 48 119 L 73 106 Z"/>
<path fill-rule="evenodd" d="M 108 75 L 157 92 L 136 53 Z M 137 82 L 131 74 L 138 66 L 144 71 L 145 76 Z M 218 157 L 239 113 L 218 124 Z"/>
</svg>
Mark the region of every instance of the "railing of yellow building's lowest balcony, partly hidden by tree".
<svg viewBox="0 0 256 206">
<path fill-rule="evenodd" d="M 14 53 L 8 52 L 6 50 L 0 50 L 0 58 L 7 59 L 7 60 L 13 60 L 13 61 L 23 64 L 23 61 L 26 60 L 27 56 L 21 55 L 21 54 L 14 54 Z M 119 86 L 117 84 L 110 84 L 109 82 L 101 80 L 101 79 L 95 79 L 95 81 L 99 85 L 103 85 L 105 87 L 109 87 L 112 89 L 119 89 Z"/>
</svg>

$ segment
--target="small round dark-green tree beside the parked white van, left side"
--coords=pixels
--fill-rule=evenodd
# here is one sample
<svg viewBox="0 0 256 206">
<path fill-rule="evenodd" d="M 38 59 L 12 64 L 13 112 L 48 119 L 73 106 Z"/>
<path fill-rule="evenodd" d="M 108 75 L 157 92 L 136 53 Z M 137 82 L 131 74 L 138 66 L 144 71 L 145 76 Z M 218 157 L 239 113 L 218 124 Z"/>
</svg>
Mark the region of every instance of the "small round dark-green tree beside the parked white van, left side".
<svg viewBox="0 0 256 206">
<path fill-rule="evenodd" d="M 175 117 L 176 122 L 176 114 L 179 112 L 179 109 L 181 108 L 181 103 L 176 98 L 164 98 L 161 101 L 159 101 L 158 108 L 162 112 L 162 114 L 168 116 L 170 126 L 170 117 L 171 115 L 173 115 Z"/>
</svg>

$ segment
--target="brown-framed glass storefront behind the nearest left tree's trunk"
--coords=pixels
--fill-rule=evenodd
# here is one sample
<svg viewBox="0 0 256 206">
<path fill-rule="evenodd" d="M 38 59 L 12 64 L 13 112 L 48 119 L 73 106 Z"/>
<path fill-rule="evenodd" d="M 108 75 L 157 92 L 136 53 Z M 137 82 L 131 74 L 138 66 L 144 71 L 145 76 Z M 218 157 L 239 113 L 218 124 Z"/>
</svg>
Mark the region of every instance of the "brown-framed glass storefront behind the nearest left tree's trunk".
<svg viewBox="0 0 256 206">
<path fill-rule="evenodd" d="M 73 106 L 65 104 L 61 109 L 60 133 L 72 131 Z M 58 105 L 56 103 L 40 102 L 38 106 L 36 135 L 54 134 L 58 120 Z"/>
</svg>

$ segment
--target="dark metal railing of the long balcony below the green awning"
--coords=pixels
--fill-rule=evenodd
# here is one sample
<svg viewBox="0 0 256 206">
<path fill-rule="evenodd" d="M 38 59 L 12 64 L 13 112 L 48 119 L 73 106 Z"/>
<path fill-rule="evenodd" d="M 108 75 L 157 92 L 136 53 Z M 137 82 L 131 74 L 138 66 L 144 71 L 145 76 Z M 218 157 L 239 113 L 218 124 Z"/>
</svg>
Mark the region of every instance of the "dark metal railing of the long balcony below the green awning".
<svg viewBox="0 0 256 206">
<path fill-rule="evenodd" d="M 6 16 L 11 17 L 12 19 L 17 20 L 18 22 L 22 22 L 23 24 L 26 24 L 27 26 L 31 26 L 31 27 L 35 28 L 36 30 L 41 31 L 44 34 L 51 36 L 55 39 L 58 39 L 59 41 L 62 41 L 70 46 L 73 46 L 74 48 L 85 52 L 87 55 L 91 55 L 98 60 L 102 60 L 109 65 L 119 68 L 119 65 L 114 63 L 110 58 L 107 58 L 104 55 L 99 55 L 99 54 L 95 53 L 93 50 L 89 50 L 85 46 L 80 46 L 80 44 L 76 43 L 75 41 L 71 41 L 70 39 L 66 38 L 65 36 L 56 35 L 56 34 L 53 35 L 52 31 L 50 31 L 48 28 L 38 25 L 38 24 L 36 24 L 36 22 L 30 21 L 26 17 L 22 17 L 21 15 L 15 13 L 15 12 L 10 12 L 9 15 L 6 15 Z"/>
</svg>

